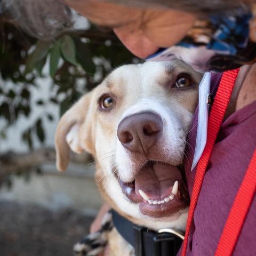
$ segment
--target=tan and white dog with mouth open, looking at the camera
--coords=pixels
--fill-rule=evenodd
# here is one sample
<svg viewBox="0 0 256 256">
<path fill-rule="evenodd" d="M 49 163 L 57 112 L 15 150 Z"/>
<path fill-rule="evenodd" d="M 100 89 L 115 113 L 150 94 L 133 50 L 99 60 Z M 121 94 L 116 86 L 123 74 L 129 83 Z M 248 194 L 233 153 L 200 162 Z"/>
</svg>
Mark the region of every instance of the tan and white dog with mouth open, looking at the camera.
<svg viewBox="0 0 256 256">
<path fill-rule="evenodd" d="M 201 79 L 179 60 L 115 69 L 60 119 L 57 169 L 67 169 L 70 149 L 87 151 L 100 193 L 115 211 L 152 230 L 184 231 L 189 196 L 179 166 Z M 110 255 L 132 255 L 111 232 Z"/>
</svg>

